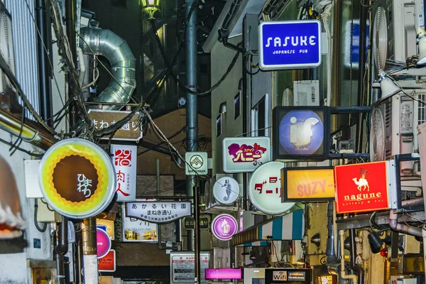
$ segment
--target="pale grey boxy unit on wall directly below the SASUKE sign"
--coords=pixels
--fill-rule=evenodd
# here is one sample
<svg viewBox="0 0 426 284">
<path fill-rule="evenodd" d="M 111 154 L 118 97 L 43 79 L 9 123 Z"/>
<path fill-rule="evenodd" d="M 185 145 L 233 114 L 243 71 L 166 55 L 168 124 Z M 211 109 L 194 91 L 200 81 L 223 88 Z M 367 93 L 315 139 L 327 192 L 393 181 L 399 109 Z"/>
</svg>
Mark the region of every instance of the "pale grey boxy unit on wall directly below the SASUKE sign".
<svg viewBox="0 0 426 284">
<path fill-rule="evenodd" d="M 319 106 L 320 81 L 293 82 L 293 96 L 295 106 Z"/>
</svg>

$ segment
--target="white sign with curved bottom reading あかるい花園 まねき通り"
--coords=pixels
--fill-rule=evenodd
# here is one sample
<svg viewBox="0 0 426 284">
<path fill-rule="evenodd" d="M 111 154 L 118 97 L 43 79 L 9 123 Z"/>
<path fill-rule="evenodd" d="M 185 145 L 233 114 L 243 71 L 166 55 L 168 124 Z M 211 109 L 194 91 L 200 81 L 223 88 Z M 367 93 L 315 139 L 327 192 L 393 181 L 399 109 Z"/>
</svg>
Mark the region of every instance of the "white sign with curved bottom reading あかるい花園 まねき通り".
<svg viewBox="0 0 426 284">
<path fill-rule="evenodd" d="M 134 217 L 155 224 L 170 223 L 186 216 L 191 216 L 191 202 L 126 203 L 126 217 Z"/>
</svg>

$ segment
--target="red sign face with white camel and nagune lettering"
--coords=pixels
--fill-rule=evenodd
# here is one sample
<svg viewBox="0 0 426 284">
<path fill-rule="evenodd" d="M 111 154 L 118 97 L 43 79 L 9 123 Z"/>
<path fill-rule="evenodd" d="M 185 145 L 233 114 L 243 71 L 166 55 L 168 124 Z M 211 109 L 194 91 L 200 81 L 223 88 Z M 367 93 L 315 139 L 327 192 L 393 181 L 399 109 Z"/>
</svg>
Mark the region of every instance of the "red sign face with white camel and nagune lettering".
<svg viewBox="0 0 426 284">
<path fill-rule="evenodd" d="M 388 209 L 386 161 L 334 167 L 337 213 Z"/>
</svg>

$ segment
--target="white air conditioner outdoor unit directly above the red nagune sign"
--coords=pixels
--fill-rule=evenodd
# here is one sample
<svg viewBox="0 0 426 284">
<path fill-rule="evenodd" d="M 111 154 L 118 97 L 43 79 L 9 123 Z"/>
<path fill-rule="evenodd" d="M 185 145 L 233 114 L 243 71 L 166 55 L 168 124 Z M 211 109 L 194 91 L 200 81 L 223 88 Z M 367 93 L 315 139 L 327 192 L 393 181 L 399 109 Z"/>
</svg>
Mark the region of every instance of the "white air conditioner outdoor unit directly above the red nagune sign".
<svg viewBox="0 0 426 284">
<path fill-rule="evenodd" d="M 413 92 L 406 90 L 405 92 Z M 370 159 L 391 160 L 393 155 L 413 153 L 414 102 L 402 93 L 386 97 L 371 107 Z M 413 162 L 401 163 L 401 176 L 413 175 Z"/>
</svg>

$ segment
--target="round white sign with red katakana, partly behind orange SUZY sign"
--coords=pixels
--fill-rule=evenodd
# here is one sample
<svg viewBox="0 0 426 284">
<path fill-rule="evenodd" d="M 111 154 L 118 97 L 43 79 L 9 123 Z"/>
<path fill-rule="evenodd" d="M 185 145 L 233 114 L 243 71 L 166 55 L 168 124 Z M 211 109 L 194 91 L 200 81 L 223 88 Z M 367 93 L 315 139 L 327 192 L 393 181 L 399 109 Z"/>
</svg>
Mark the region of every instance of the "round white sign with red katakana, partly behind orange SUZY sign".
<svg viewBox="0 0 426 284">
<path fill-rule="evenodd" d="M 251 175 L 249 198 L 261 212 L 278 215 L 288 211 L 295 202 L 281 203 L 281 169 L 284 163 L 268 162 L 258 167 Z"/>
</svg>

